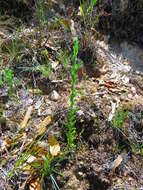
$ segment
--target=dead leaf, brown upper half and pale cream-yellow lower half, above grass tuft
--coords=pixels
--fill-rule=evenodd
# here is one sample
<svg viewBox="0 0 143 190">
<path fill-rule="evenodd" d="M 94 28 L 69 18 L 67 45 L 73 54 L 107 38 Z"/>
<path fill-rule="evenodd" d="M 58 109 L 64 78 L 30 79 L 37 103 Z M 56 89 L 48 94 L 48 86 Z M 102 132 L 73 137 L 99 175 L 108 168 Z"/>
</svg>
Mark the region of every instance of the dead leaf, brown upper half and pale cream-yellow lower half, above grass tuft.
<svg viewBox="0 0 143 190">
<path fill-rule="evenodd" d="M 52 156 L 57 156 L 60 152 L 60 145 L 54 136 L 48 137 L 48 143 L 50 145 L 50 153 Z"/>
</svg>

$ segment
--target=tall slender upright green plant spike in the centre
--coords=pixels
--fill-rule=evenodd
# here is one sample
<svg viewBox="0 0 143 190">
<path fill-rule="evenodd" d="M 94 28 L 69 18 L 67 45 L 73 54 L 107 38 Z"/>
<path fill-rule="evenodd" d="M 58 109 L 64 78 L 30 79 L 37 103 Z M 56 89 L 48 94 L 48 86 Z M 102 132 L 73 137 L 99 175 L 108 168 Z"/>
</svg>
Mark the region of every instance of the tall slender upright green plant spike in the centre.
<svg viewBox="0 0 143 190">
<path fill-rule="evenodd" d="M 75 107 L 75 97 L 77 96 L 77 90 L 75 89 L 75 84 L 77 82 L 78 70 L 81 66 L 81 62 L 77 63 L 77 55 L 79 51 L 78 38 L 74 38 L 74 47 L 73 47 L 73 68 L 71 69 L 71 94 L 70 94 L 70 107 L 68 113 L 68 123 L 67 127 L 67 142 L 69 147 L 74 147 L 75 139 L 75 122 L 76 122 L 76 112 L 77 107 Z"/>
</svg>

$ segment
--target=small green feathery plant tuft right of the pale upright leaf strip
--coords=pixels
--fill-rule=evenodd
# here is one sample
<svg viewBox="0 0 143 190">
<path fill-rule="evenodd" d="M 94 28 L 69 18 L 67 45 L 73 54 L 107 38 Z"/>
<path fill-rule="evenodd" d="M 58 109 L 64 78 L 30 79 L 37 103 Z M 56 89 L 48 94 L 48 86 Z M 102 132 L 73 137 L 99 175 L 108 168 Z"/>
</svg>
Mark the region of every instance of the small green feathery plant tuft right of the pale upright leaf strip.
<svg viewBox="0 0 143 190">
<path fill-rule="evenodd" d="M 116 110 L 115 117 L 113 119 L 113 125 L 119 129 L 122 129 L 122 125 L 128 116 L 128 110 L 123 107 L 119 107 Z"/>
</svg>

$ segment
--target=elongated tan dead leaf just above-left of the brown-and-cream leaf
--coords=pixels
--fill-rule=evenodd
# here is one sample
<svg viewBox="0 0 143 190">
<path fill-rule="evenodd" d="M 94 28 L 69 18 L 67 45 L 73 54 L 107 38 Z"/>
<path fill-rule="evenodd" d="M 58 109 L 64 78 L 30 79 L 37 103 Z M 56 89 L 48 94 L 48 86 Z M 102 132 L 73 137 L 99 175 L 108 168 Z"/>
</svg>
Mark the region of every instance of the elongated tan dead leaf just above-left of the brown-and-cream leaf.
<svg viewBox="0 0 143 190">
<path fill-rule="evenodd" d="M 37 135 L 42 135 L 43 133 L 46 132 L 47 130 L 47 126 L 50 125 L 52 122 L 52 118 L 51 116 L 47 116 L 40 124 L 40 126 L 38 127 L 38 130 L 37 130 Z"/>
</svg>

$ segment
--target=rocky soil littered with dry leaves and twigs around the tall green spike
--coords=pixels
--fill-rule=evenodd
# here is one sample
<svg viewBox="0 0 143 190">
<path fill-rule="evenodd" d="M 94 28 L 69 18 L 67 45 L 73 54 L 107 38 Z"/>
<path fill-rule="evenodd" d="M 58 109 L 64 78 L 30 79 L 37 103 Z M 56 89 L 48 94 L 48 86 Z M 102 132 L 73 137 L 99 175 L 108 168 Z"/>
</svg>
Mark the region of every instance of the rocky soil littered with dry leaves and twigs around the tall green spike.
<svg viewBox="0 0 143 190">
<path fill-rule="evenodd" d="M 0 87 L 0 190 L 143 189 L 142 2 L 101 2 L 91 25 L 84 25 L 79 1 L 46 2 L 46 26 L 33 1 L 0 2 L 0 68 L 14 72 L 13 96 L 7 84 Z M 76 149 L 69 151 L 64 123 L 72 63 L 65 67 L 60 51 L 72 53 L 75 34 L 83 65 L 76 84 Z M 11 57 L 6 47 L 13 48 L 15 37 L 18 51 Z M 36 70 L 46 63 L 44 51 L 51 68 L 46 77 Z M 123 122 L 119 113 L 126 115 Z M 60 151 L 52 163 L 56 172 L 43 182 L 34 163 L 49 155 L 50 136 Z"/>
</svg>

